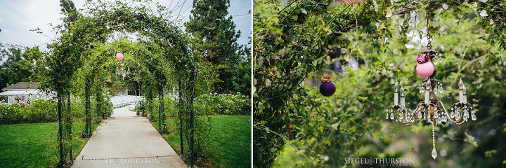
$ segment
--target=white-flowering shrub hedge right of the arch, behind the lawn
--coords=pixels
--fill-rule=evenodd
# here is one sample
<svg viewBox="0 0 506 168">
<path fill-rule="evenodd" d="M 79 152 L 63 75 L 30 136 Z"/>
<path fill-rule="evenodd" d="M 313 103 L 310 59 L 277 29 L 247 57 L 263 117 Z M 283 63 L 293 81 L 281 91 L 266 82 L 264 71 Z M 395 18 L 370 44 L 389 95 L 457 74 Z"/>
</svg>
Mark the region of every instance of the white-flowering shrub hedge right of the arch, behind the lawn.
<svg viewBox="0 0 506 168">
<path fill-rule="evenodd" d="M 250 113 L 250 99 L 242 94 L 203 94 L 195 99 L 194 105 L 199 115 Z"/>
</svg>

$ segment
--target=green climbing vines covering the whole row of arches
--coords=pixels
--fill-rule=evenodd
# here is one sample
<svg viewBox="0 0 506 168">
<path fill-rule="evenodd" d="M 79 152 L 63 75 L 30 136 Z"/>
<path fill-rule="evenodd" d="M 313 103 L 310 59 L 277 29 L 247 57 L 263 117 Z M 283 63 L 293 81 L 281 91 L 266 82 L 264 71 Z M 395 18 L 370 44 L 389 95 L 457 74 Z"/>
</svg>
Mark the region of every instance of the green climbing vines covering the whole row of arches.
<svg viewBox="0 0 506 168">
<path fill-rule="evenodd" d="M 123 50 L 126 56 L 132 57 L 133 62 L 126 64 L 134 64 L 131 71 L 136 71 L 132 76 L 134 80 L 145 81 L 152 80 L 147 85 L 151 87 L 148 91 L 148 100 L 157 97 L 164 99 L 164 88 L 167 87 L 170 80 L 183 81 L 178 83 L 179 103 L 177 110 L 181 111 L 182 117 L 189 115 L 189 120 L 181 120 L 180 127 L 189 138 L 190 146 L 190 165 L 193 165 L 193 158 L 196 155 L 193 152 L 193 134 L 195 132 L 195 113 L 193 111 L 193 99 L 201 92 L 195 92 L 195 78 L 202 74 L 197 69 L 200 67 L 200 58 L 202 55 L 193 53 L 189 37 L 176 27 L 173 22 L 167 18 L 167 11 L 163 6 L 157 6 L 154 10 L 148 6 L 130 6 L 127 3 L 116 1 L 107 3 L 102 1 L 88 1 L 85 10 L 76 10 L 71 1 L 62 1 L 65 10 L 64 25 L 57 26 L 60 36 L 53 44 L 49 45 L 50 53 L 45 58 L 46 68 L 42 71 L 45 78 L 41 78 L 41 87 L 56 92 L 58 98 L 58 116 L 60 117 L 59 129 L 60 138 L 58 145 L 58 167 L 63 167 L 67 162 L 72 162 L 72 146 L 70 137 L 72 137 L 72 116 L 70 116 L 70 94 L 72 94 L 73 85 L 80 73 L 85 85 L 84 100 L 87 102 L 85 108 L 89 111 L 89 100 L 91 94 L 95 94 L 98 102 L 103 102 L 100 94 L 106 90 L 91 90 L 91 87 L 100 87 L 105 85 L 103 82 L 110 78 L 111 71 L 117 65 L 113 65 L 114 59 L 110 59 L 113 55 L 110 52 Z M 146 1 L 146 3 L 153 3 Z M 153 14 L 157 13 L 157 15 Z M 126 32 L 127 34 L 137 33 L 143 41 L 149 41 L 155 45 L 143 45 L 145 43 L 137 43 L 134 48 L 128 46 L 119 46 L 114 48 L 107 43 L 112 34 L 117 32 Z M 95 44 L 94 48 L 90 48 L 90 44 Z M 148 50 L 146 47 L 151 47 Z M 126 48 L 125 48 L 126 47 Z M 98 49 L 96 49 L 98 48 Z M 127 53 L 129 52 L 129 53 Z M 107 57 L 107 58 L 105 58 Z M 101 68 L 105 66 L 105 69 Z M 129 66 L 129 65 L 127 65 Z M 168 76 L 167 69 L 171 69 L 175 75 Z M 137 72 L 138 71 L 138 72 Z M 113 75 L 114 76 L 114 75 Z M 143 78 L 143 80 L 141 79 Z M 175 85 L 176 82 L 171 82 Z M 97 105 L 102 106 L 102 105 Z M 164 104 L 160 104 L 159 111 L 162 115 Z M 100 112 L 97 112 L 100 113 Z M 183 116 L 184 115 L 184 116 Z M 88 116 L 87 118 L 91 118 Z M 165 118 L 160 116 L 160 118 Z M 89 122 L 86 122 L 89 123 Z M 162 122 L 164 125 L 164 122 Z M 165 131 L 165 127 L 160 128 L 160 132 Z M 90 134 L 86 130 L 85 134 Z M 181 146 L 183 147 L 183 146 Z M 181 151 L 182 152 L 182 151 Z"/>
</svg>

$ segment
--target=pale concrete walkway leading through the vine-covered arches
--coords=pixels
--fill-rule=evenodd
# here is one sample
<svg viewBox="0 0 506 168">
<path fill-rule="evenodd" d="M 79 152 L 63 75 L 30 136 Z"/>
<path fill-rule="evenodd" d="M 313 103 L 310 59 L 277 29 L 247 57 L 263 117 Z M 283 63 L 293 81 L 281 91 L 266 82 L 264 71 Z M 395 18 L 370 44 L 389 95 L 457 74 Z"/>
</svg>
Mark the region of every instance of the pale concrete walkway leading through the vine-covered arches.
<svg viewBox="0 0 506 168">
<path fill-rule="evenodd" d="M 72 167 L 188 167 L 148 119 L 128 106 L 103 120 Z"/>
</svg>

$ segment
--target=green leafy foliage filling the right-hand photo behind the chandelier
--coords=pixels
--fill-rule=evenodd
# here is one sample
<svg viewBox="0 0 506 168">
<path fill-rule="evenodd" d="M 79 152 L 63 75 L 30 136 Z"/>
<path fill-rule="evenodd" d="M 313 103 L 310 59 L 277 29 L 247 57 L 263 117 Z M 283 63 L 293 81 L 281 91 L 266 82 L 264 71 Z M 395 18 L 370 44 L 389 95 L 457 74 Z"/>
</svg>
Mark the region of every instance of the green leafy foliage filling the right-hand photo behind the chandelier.
<svg viewBox="0 0 506 168">
<path fill-rule="evenodd" d="M 415 77 L 413 71 L 416 64 L 413 55 L 423 50 L 418 45 L 427 31 L 433 36 L 433 49 L 441 51 L 446 60 L 443 65 L 438 65 L 439 73 L 436 76 L 442 78 L 443 83 L 448 83 L 446 90 L 455 87 L 458 76 L 462 76 L 462 80 L 467 83 L 479 78 L 483 78 L 481 83 L 487 83 L 484 82 L 486 78 L 492 81 L 503 78 L 502 73 L 480 73 L 481 69 L 502 69 L 496 66 L 504 57 L 499 50 L 502 44 L 490 38 L 494 34 L 502 34 L 493 31 L 500 29 L 502 23 L 489 24 L 490 19 L 504 16 L 501 14 L 504 10 L 499 7 L 501 2 L 476 1 L 479 4 L 476 9 L 472 5 L 474 3 L 475 1 L 365 1 L 357 4 L 339 1 L 255 1 L 254 166 L 275 165 L 275 158 L 278 158 L 278 153 L 285 146 L 296 148 L 304 156 L 301 157 L 304 158 L 301 165 L 308 167 L 340 167 L 344 166 L 344 158 L 355 156 L 399 157 L 402 154 L 399 151 L 381 150 L 389 142 L 398 139 L 398 136 L 406 136 L 401 134 L 406 127 L 384 120 L 384 109 L 391 101 L 391 85 L 395 80 L 401 80 L 408 90 L 416 89 L 420 78 Z M 424 15 L 426 9 L 430 9 L 428 17 Z M 481 10 L 488 13 L 494 11 L 494 16 L 489 14 L 481 17 Z M 427 18 L 429 23 L 424 22 Z M 483 24 L 485 22 L 487 24 Z M 427 29 L 424 28 L 426 25 Z M 473 35 L 462 36 L 469 34 L 467 31 Z M 413 41 L 415 38 L 418 40 Z M 351 59 L 363 62 L 364 66 L 355 71 L 346 69 Z M 315 87 L 319 83 L 315 81 L 323 73 L 333 72 L 328 66 L 336 61 L 344 62 L 346 73 L 334 75 L 337 78 L 334 96 L 321 97 Z M 504 87 L 503 82 L 492 83 L 483 85 L 498 89 L 495 92 L 503 92 L 499 89 Z M 502 103 L 481 101 L 502 94 L 477 94 L 491 90 L 480 90 L 482 84 L 476 82 L 469 85 L 478 86 L 468 87 L 468 90 L 476 90 L 472 91 L 476 92 L 473 94 L 473 102 L 478 104 L 476 109 L 487 111 L 488 114 L 499 113 L 486 109 L 488 106 L 503 106 Z M 455 92 L 445 93 L 443 102 L 454 102 Z M 413 92 L 408 93 L 406 100 L 420 98 L 415 95 Z M 393 127 L 391 125 L 396 126 L 396 129 L 388 129 Z M 467 128 L 466 126 L 465 129 Z M 427 125 L 420 123 L 412 126 L 412 129 L 427 130 Z M 462 134 L 465 129 L 457 133 L 448 129 L 448 125 L 441 128 L 443 132 L 453 134 L 443 134 L 443 137 L 455 137 L 455 134 Z M 455 143 L 457 146 L 465 146 Z M 417 153 L 430 153 L 428 149 L 421 149 L 422 145 L 416 148 L 420 149 Z M 447 150 L 460 151 L 456 148 Z M 462 155 L 468 156 L 470 153 L 472 152 Z M 420 160 L 429 159 L 428 154 L 427 158 L 422 154 Z M 456 152 L 451 155 L 456 155 Z M 332 159 L 329 160 L 329 157 Z M 476 162 L 485 164 L 478 160 Z M 441 161 L 442 167 L 445 167 L 444 163 L 448 164 L 447 167 L 452 166 Z M 434 162 L 420 164 L 427 166 Z M 486 163 L 491 167 L 497 167 L 496 164 L 498 162 L 495 161 Z"/>
</svg>

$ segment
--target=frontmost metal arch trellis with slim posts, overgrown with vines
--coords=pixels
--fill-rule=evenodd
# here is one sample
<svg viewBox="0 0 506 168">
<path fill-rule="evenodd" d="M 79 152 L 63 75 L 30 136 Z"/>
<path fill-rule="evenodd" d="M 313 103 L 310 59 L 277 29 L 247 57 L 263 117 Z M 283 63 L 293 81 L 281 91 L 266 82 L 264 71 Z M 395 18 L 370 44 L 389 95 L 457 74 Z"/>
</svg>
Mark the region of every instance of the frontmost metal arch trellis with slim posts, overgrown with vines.
<svg viewBox="0 0 506 168">
<path fill-rule="evenodd" d="M 96 3 L 96 5 L 100 4 Z M 158 18 L 155 15 L 145 13 L 145 11 L 127 7 L 126 4 L 121 3 L 117 5 L 118 6 L 115 8 L 90 8 L 91 16 L 79 15 L 79 18 L 72 22 L 72 25 L 70 25 L 66 31 L 61 31 L 62 36 L 60 36 L 53 48 L 51 48 L 53 49 L 53 55 L 51 55 L 49 60 L 56 64 L 48 67 L 49 71 L 47 74 L 51 76 L 51 79 L 46 81 L 42 87 L 47 87 L 50 90 L 56 91 L 58 97 L 58 138 L 60 156 L 58 167 L 65 167 L 65 162 L 67 161 L 70 161 L 70 164 L 72 164 L 73 160 L 72 144 L 70 143 L 70 141 L 72 141 L 72 137 L 70 137 L 72 134 L 72 120 L 70 119 L 70 88 L 72 85 L 69 84 L 72 79 L 61 81 L 60 79 L 65 76 L 71 76 L 74 71 L 82 66 L 81 53 L 86 50 L 83 47 L 85 43 L 89 41 L 105 41 L 105 36 L 101 36 L 102 34 L 110 34 L 115 29 L 126 29 L 128 31 L 138 31 L 141 34 L 150 36 L 155 39 L 154 41 L 159 42 L 162 48 L 169 47 L 172 50 L 179 50 L 179 52 L 181 52 L 179 55 L 164 55 L 171 64 L 192 64 L 192 62 L 195 61 L 193 57 L 188 55 L 185 37 L 182 36 L 182 33 L 177 27 L 171 25 L 171 22 Z M 134 12 L 126 13 L 124 10 Z M 117 27 L 108 27 L 114 25 Z M 176 71 L 193 72 L 194 69 L 192 68 L 195 68 L 195 66 L 179 67 L 181 68 L 176 69 Z M 190 80 L 193 80 L 193 77 L 190 77 Z M 193 87 L 195 86 L 188 85 L 187 87 L 193 92 Z M 181 98 L 183 96 L 184 95 L 181 95 Z M 190 95 L 190 98 L 193 98 L 193 94 Z M 189 105 L 193 106 L 193 101 L 191 100 L 192 99 L 190 99 Z M 190 109 L 193 108 L 190 107 Z M 179 110 L 181 111 L 181 109 Z M 190 114 L 194 115 L 193 113 Z M 193 118 L 193 116 L 191 117 Z M 70 123 L 70 125 L 67 124 L 63 127 L 64 122 Z M 193 123 L 190 121 L 190 125 L 192 124 Z M 191 133 L 193 133 L 193 130 L 191 131 Z M 65 132 L 68 134 L 65 134 Z M 64 134 L 66 135 L 65 137 L 67 137 L 65 141 L 63 139 Z M 191 136 L 193 137 L 193 134 Z M 190 151 L 192 151 L 191 156 L 193 157 L 193 141 L 190 141 Z M 68 156 L 68 160 L 65 156 Z M 193 167 L 193 158 L 190 158 L 190 166 Z"/>
</svg>

